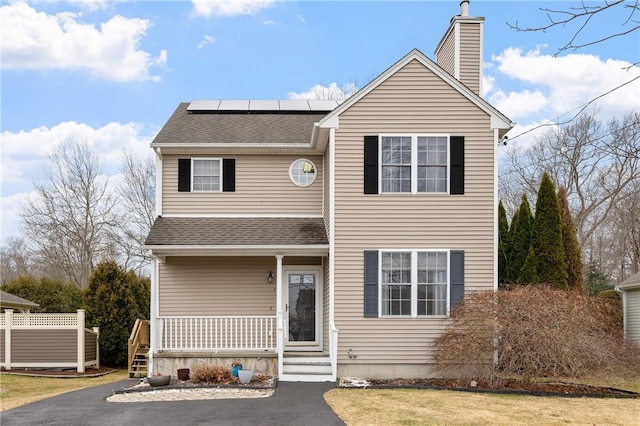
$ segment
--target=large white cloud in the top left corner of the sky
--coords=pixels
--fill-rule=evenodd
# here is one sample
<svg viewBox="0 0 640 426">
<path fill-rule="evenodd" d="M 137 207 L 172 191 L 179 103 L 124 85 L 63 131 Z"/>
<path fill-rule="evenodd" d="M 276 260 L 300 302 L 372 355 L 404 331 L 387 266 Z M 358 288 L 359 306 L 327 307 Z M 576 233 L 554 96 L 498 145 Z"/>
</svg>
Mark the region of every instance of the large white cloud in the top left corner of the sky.
<svg viewBox="0 0 640 426">
<path fill-rule="evenodd" d="M 87 69 L 115 81 L 154 80 L 150 69 L 165 67 L 167 52 L 154 58 L 139 49 L 151 23 L 114 16 L 100 28 L 70 12 L 48 15 L 23 2 L 0 7 L 2 68 Z"/>
</svg>

